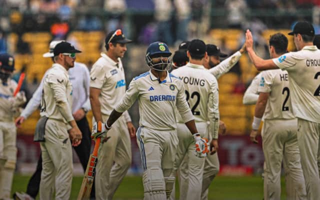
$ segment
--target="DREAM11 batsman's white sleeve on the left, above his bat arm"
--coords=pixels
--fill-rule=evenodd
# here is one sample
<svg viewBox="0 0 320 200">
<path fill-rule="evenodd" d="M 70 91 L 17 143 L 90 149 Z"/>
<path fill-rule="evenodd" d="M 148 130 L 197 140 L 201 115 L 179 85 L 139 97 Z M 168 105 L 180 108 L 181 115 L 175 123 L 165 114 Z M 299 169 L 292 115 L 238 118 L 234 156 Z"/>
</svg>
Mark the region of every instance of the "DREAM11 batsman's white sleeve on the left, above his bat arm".
<svg viewBox="0 0 320 200">
<path fill-rule="evenodd" d="M 129 88 L 125 91 L 122 100 L 115 106 L 115 111 L 124 112 L 129 109 L 135 102 L 139 95 L 138 82 L 134 79 L 131 80 Z"/>
</svg>

